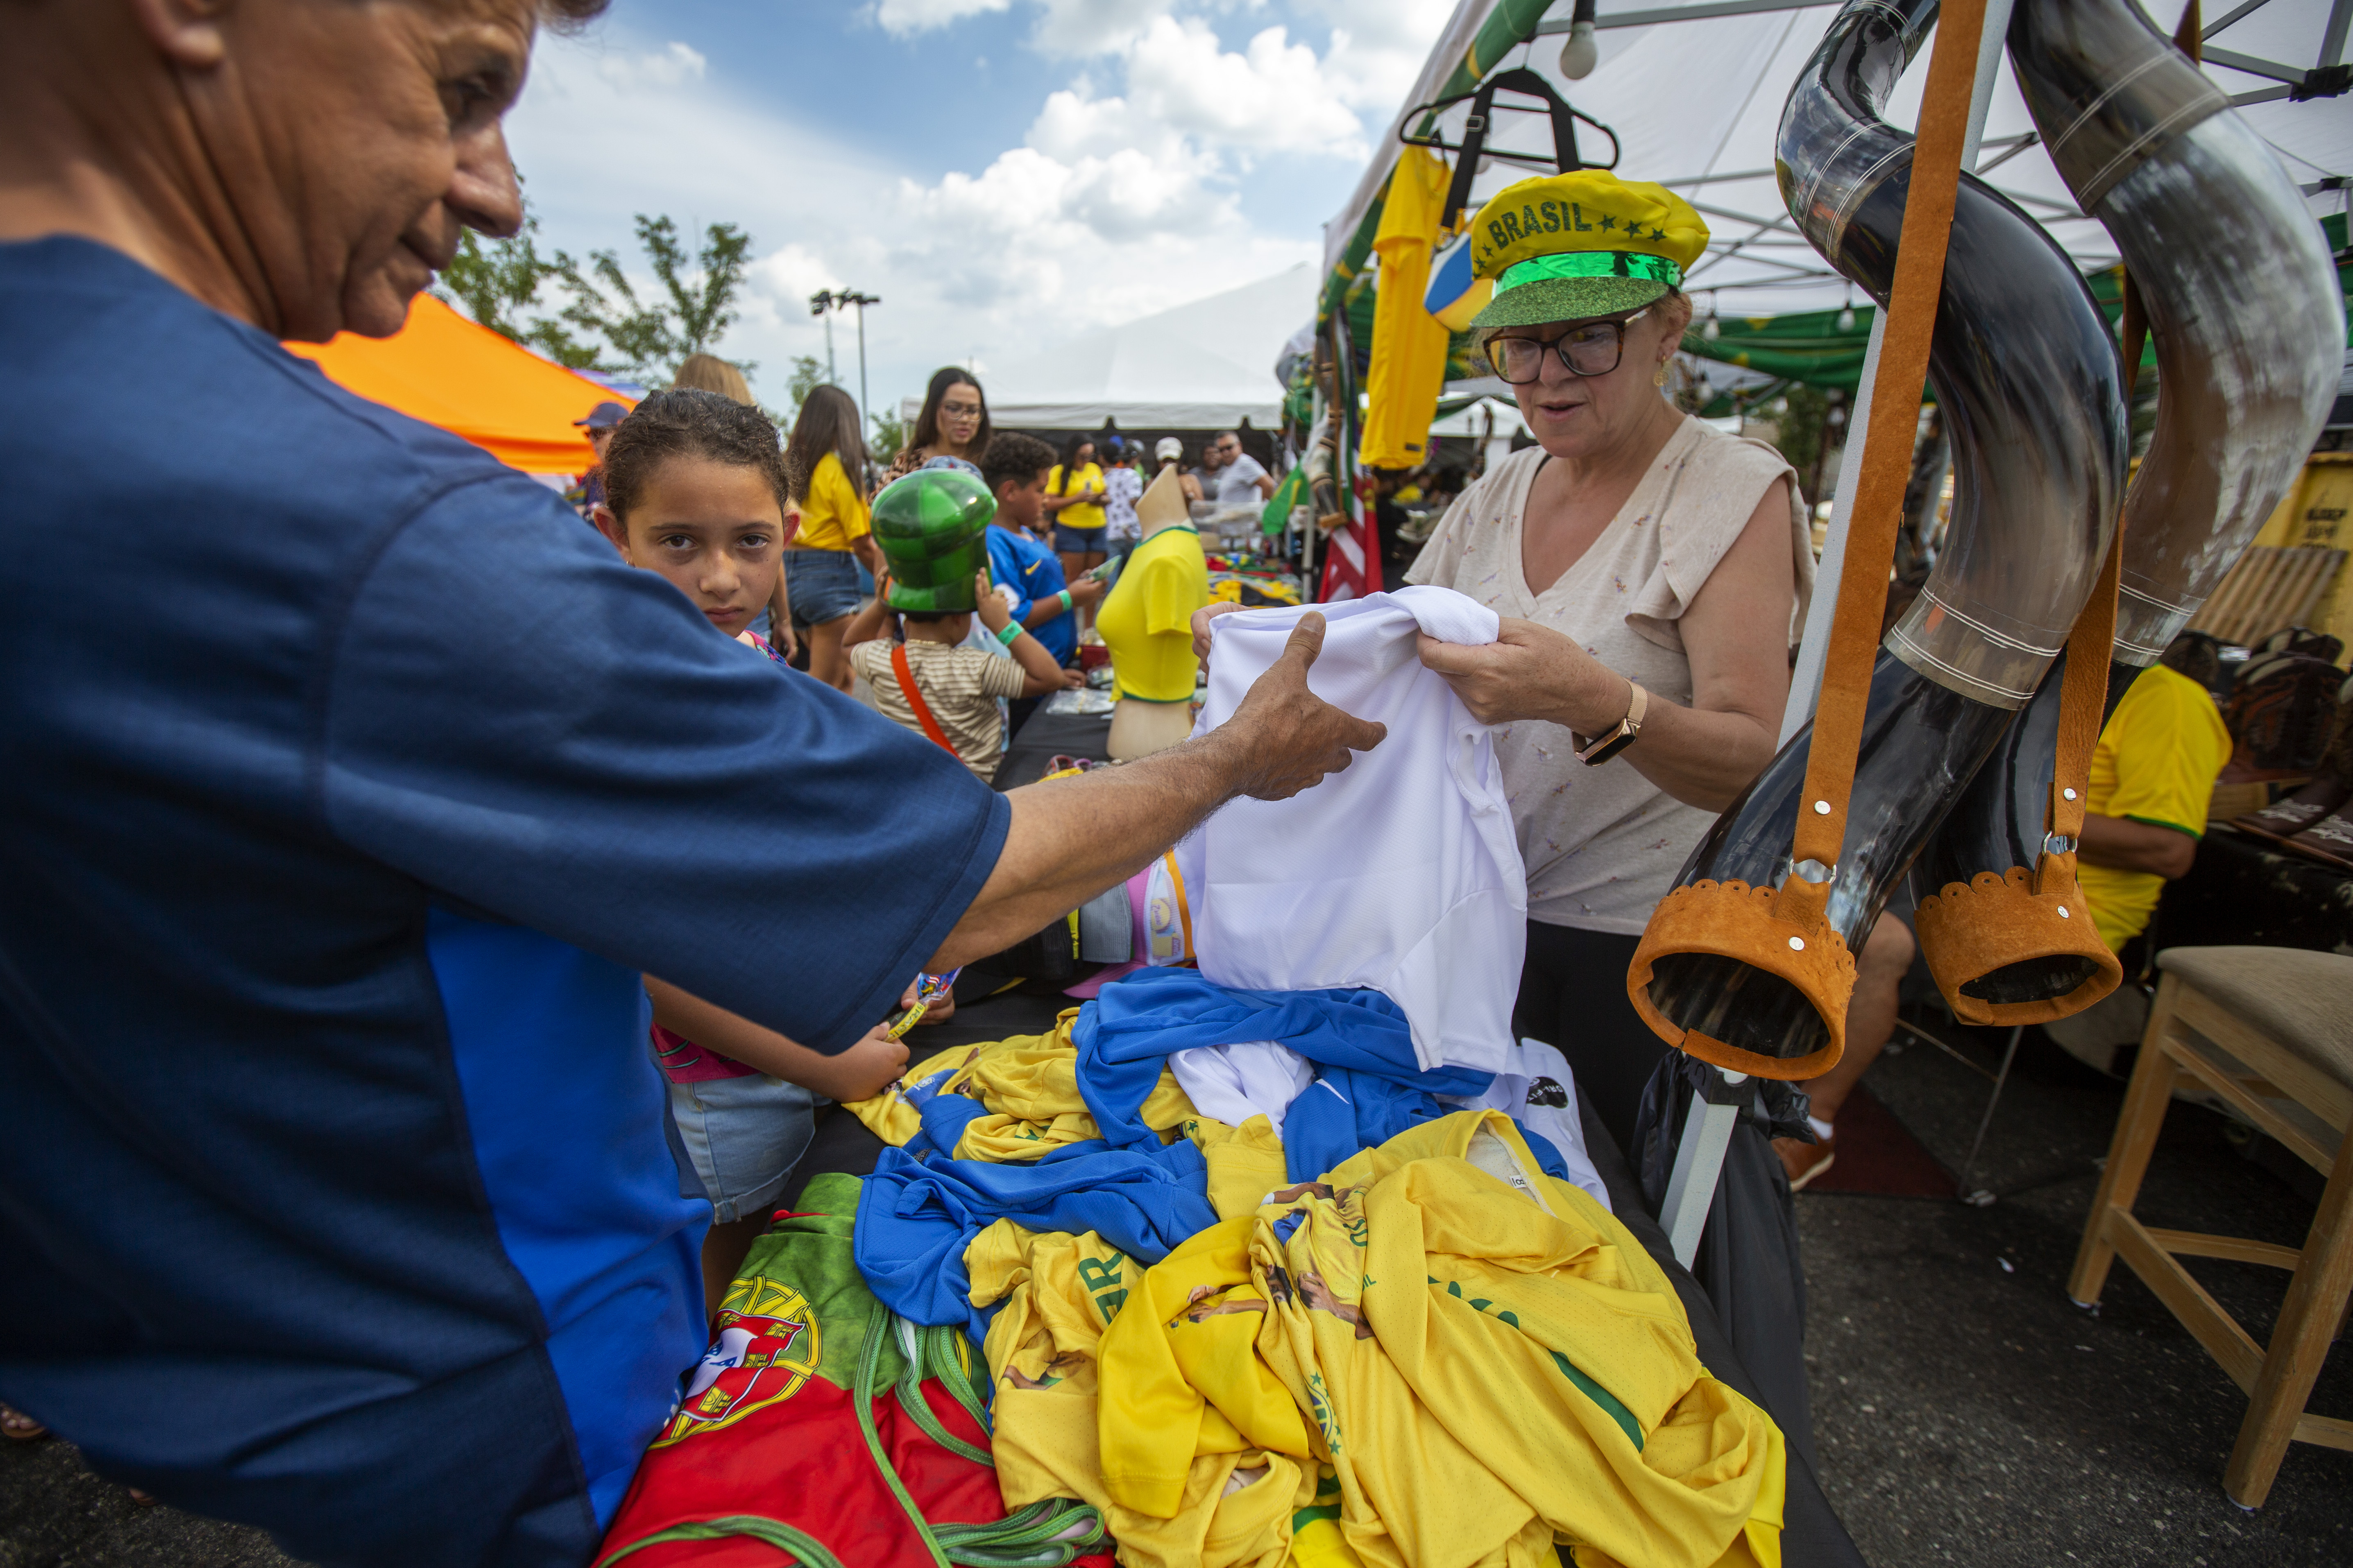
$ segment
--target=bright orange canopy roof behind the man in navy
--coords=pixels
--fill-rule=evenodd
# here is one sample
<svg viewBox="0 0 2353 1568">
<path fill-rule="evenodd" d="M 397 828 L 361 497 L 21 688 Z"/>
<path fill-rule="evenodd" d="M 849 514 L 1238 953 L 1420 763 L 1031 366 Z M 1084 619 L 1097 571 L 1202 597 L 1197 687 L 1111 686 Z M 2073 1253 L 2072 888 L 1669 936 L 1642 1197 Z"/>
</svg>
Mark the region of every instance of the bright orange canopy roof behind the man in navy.
<svg viewBox="0 0 2353 1568">
<path fill-rule="evenodd" d="M 287 343 L 341 388 L 400 409 L 525 473 L 586 473 L 595 449 L 572 421 L 631 397 L 541 360 L 489 327 L 419 294 L 388 339 L 341 331 L 329 343 Z"/>
</svg>

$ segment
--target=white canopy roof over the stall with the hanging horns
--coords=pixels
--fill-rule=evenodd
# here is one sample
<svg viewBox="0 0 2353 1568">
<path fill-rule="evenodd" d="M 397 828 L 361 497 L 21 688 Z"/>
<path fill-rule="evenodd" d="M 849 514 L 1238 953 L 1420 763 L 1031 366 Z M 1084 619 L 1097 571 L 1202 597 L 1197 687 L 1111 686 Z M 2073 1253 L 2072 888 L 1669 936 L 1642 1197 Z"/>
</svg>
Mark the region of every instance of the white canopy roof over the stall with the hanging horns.
<svg viewBox="0 0 2353 1568">
<path fill-rule="evenodd" d="M 1325 266 L 1344 266 L 1365 214 L 1381 200 L 1395 165 L 1398 132 L 1421 122 L 1419 106 L 1464 63 L 1471 40 L 1506 9 L 1501 0 L 1461 0 L 1414 82 L 1414 92 L 1391 122 L 1388 139 L 1348 205 L 1325 226 Z M 1508 7 L 1527 12 L 1529 7 Z M 1671 186 L 1708 219 L 1708 254 L 1692 268 L 1687 289 L 1699 308 L 1758 317 L 1788 310 L 1835 310 L 1847 284 L 1798 235 L 1774 181 L 1774 132 L 1788 89 L 1821 42 L 1838 0 L 1661 0 L 1612 7 L 1602 0 L 1595 21 L 1600 63 L 1584 80 L 1560 73 L 1560 42 L 1569 26 L 1569 0 L 1555 0 L 1534 38 L 1499 59 L 1480 61 L 1480 75 L 1511 66 L 1541 73 L 1572 106 L 1612 127 L 1621 141 L 1617 174 Z M 2160 33 L 2179 21 L 2174 0 L 2144 0 Z M 2344 209 L 2341 179 L 2353 169 L 2353 99 L 2320 96 L 2292 101 L 2306 75 L 2346 59 L 2346 24 L 2353 0 L 2209 0 L 2205 19 L 2205 71 L 2233 94 L 2247 122 L 2280 153 L 2313 205 L 2313 216 Z M 1494 28 L 1487 28 L 1489 38 Z M 1889 103 L 1889 120 L 1911 127 L 1920 108 L 1927 54 Z M 1473 186 L 1473 207 L 1504 186 L 1551 169 L 1551 132 L 1537 113 L 1501 113 L 1529 99 L 1497 96 L 1489 153 L 1534 153 L 1541 169 L 1487 160 Z M 1438 118 L 1445 141 L 1461 141 L 1468 103 Z M 1579 148 L 1605 160 L 1609 143 L 1579 127 Z M 2019 202 L 2087 270 L 2115 261 L 2106 230 L 2075 212 L 2075 202 L 2033 139 L 2033 120 L 2019 96 L 2007 56 L 1993 85 L 1977 174 Z"/>
</svg>

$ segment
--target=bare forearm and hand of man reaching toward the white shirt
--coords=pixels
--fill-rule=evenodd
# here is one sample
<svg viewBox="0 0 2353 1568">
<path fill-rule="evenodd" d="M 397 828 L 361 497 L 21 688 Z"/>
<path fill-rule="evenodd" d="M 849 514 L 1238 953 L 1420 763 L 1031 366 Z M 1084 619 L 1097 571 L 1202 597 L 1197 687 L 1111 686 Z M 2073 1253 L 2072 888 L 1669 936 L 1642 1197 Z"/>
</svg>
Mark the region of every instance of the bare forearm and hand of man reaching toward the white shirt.
<svg viewBox="0 0 2353 1568">
<path fill-rule="evenodd" d="M 1388 733 L 1308 691 L 1325 621 L 1306 614 L 1233 717 L 1198 741 L 1082 778 L 1007 792 L 1012 827 L 979 898 L 929 969 L 1012 947 L 1104 889 L 1127 882 L 1235 795 L 1287 799 Z"/>
</svg>

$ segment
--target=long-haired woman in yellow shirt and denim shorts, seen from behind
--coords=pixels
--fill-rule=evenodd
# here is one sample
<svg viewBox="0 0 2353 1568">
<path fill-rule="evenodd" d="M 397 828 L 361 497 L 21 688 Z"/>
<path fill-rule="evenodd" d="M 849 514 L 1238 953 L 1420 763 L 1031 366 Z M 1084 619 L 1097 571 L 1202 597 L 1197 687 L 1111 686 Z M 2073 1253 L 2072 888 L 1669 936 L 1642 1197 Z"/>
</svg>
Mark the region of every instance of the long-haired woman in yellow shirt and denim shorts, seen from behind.
<svg viewBox="0 0 2353 1568">
<path fill-rule="evenodd" d="M 866 512 L 866 440 L 859 404 L 838 386 L 821 386 L 800 404 L 786 463 L 800 482 L 800 534 L 786 562 L 793 630 L 809 646 L 809 675 L 849 691 L 842 630 L 864 602 L 859 562 L 882 571 L 882 548 Z"/>
</svg>

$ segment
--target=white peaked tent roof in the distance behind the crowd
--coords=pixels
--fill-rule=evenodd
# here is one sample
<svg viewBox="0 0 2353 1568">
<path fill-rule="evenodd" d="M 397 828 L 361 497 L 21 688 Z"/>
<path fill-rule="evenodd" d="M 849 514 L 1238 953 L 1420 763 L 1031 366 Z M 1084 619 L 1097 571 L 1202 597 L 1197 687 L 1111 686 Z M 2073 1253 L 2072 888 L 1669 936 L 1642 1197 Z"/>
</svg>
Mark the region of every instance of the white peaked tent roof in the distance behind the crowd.
<svg viewBox="0 0 2353 1568">
<path fill-rule="evenodd" d="M 1275 357 L 1315 320 L 1318 268 L 1299 266 L 1099 327 L 1056 348 L 981 374 L 988 416 L 1014 430 L 1217 430 L 1282 418 Z M 908 400 L 908 418 L 920 409 Z"/>
</svg>

